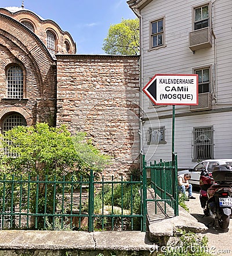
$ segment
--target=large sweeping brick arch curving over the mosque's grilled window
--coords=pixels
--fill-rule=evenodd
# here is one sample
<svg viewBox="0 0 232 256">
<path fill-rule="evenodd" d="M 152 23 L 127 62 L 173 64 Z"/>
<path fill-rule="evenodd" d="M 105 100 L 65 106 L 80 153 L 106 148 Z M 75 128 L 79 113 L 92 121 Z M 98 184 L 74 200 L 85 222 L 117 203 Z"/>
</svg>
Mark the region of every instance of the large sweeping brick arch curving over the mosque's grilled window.
<svg viewBox="0 0 232 256">
<path fill-rule="evenodd" d="M 56 87 L 56 61 L 37 35 L 19 21 L 0 13 L 0 37 L 0 44 L 15 58 L 22 63 L 28 59 L 37 77 L 40 97 L 44 97 L 48 91 L 50 93 Z"/>
</svg>

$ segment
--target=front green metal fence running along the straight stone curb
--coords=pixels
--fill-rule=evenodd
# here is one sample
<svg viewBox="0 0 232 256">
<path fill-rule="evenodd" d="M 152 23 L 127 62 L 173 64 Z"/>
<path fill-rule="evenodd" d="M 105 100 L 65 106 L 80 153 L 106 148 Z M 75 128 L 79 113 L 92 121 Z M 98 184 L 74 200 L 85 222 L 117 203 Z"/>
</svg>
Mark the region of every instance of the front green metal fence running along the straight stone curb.
<svg viewBox="0 0 232 256">
<path fill-rule="evenodd" d="M 146 231 L 139 181 L 0 177 L 1 229 Z M 145 221 L 145 223 L 144 223 Z"/>
</svg>

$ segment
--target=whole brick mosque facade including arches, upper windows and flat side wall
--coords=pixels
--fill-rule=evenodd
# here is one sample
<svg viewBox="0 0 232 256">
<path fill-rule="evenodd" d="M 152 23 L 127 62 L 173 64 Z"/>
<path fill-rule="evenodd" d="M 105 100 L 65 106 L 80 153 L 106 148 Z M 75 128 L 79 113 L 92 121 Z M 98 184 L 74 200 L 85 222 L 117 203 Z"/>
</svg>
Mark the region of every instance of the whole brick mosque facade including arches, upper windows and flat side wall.
<svg viewBox="0 0 232 256">
<path fill-rule="evenodd" d="M 103 175 L 139 169 L 139 56 L 78 55 L 52 20 L 24 8 L 0 17 L 1 132 L 17 120 L 66 124 L 113 157 Z"/>
</svg>

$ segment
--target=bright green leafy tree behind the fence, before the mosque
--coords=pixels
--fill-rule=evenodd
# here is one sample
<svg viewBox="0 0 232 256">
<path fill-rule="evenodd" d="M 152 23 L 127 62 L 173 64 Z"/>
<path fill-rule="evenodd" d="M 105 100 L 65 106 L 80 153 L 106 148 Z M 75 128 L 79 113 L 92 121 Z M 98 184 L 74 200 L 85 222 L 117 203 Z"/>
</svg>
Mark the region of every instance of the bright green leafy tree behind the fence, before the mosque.
<svg viewBox="0 0 232 256">
<path fill-rule="evenodd" d="M 66 126 L 49 127 L 46 123 L 37 123 L 30 127 L 17 126 L 2 134 L 0 146 L 7 148 L 11 155 L 7 156 L 3 151 L 0 152 L 1 174 L 5 175 L 3 179 L 10 181 L 14 175 L 14 180 L 32 181 L 30 196 L 27 194 L 27 183 L 0 183 L 0 198 L 5 193 L 5 209 L 12 208 L 13 203 L 19 204 L 20 197 L 23 209 L 27 209 L 27 198 L 30 197 L 30 212 L 43 213 L 46 208 L 46 211 L 51 213 L 54 211 L 54 189 L 56 193 L 61 193 L 64 187 L 62 184 L 55 186 L 55 183 L 52 183 L 55 176 L 56 181 L 62 181 L 64 176 L 66 180 L 77 181 L 80 176 L 88 177 L 91 168 L 96 173 L 102 170 L 110 158 L 93 147 L 91 141 L 86 140 L 85 135 L 79 132 L 71 136 Z M 40 182 L 35 182 L 38 179 Z M 50 183 L 45 185 L 41 182 L 43 180 L 48 180 Z M 68 189 L 73 185 L 65 186 Z M 78 189 L 78 184 L 73 189 Z M 45 199 L 45 190 L 47 199 Z M 0 209 L 3 207 L 0 202 Z"/>
</svg>

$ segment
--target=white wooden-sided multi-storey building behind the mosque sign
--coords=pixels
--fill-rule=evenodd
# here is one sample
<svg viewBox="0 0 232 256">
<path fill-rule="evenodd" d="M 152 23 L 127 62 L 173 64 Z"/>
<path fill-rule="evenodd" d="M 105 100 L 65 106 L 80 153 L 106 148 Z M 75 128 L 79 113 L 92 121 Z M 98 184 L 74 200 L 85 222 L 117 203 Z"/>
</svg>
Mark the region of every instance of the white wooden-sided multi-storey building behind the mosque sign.
<svg viewBox="0 0 232 256">
<path fill-rule="evenodd" d="M 232 1 L 129 0 L 140 19 L 142 88 L 154 74 L 198 74 L 198 106 L 175 107 L 178 168 L 232 158 Z M 172 106 L 142 93 L 141 150 L 171 160 Z"/>
</svg>

